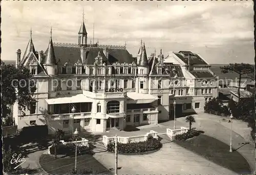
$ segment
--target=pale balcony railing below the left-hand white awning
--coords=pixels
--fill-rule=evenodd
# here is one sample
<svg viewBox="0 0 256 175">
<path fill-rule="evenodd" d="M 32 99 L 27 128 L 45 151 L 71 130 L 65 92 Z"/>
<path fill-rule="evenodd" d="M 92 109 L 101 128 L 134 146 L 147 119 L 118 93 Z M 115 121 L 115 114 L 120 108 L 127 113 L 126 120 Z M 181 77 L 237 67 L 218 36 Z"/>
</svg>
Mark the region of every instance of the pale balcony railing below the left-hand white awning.
<svg viewBox="0 0 256 175">
<path fill-rule="evenodd" d="M 63 120 L 63 119 L 78 119 L 78 118 L 90 118 L 91 112 L 69 113 L 69 114 L 47 114 L 50 120 Z"/>
</svg>

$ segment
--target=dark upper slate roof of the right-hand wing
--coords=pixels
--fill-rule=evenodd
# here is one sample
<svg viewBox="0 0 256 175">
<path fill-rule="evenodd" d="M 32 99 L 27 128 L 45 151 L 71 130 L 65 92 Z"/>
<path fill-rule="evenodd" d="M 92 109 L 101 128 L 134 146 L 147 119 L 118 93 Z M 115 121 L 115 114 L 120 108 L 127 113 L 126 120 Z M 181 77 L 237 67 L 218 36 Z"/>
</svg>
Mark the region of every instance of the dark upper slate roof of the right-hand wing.
<svg viewBox="0 0 256 175">
<path fill-rule="evenodd" d="M 188 54 L 190 54 L 190 65 L 207 65 L 207 63 L 199 57 L 197 54 L 193 54 L 190 51 L 180 51 L 179 53 L 174 53 L 179 59 L 181 59 L 185 64 L 188 64 Z"/>
</svg>

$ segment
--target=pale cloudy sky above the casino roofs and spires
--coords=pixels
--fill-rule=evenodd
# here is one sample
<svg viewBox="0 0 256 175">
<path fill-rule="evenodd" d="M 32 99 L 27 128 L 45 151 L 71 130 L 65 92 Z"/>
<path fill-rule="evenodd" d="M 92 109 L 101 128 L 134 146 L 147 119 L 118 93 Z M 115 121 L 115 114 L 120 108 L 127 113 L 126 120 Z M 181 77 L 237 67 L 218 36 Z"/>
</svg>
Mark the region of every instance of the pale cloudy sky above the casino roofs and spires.
<svg viewBox="0 0 256 175">
<path fill-rule="evenodd" d="M 84 18 L 88 42 L 125 45 L 136 57 L 140 40 L 151 53 L 191 51 L 210 64 L 254 64 L 253 1 L 2 1 L 2 60 L 25 52 L 32 28 L 36 51 L 77 43 Z"/>
</svg>

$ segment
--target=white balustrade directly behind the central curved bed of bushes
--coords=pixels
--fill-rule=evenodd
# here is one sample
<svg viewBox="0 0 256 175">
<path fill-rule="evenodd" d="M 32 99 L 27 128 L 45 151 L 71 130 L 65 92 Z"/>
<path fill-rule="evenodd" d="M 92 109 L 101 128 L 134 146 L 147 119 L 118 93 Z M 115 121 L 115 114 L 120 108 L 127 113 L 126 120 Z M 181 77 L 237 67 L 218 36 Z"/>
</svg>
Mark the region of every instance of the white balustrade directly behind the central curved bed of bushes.
<svg viewBox="0 0 256 175">
<path fill-rule="evenodd" d="M 150 131 L 150 133 L 146 133 L 145 135 L 141 136 L 131 136 L 131 137 L 117 137 L 117 142 L 118 143 L 129 143 L 129 142 L 141 142 L 141 141 L 146 141 L 148 136 L 152 136 L 153 138 L 158 139 L 157 132 L 155 131 Z M 108 137 L 108 136 L 103 136 L 102 142 L 104 145 L 108 145 L 110 142 L 114 142 L 115 137 Z"/>
</svg>

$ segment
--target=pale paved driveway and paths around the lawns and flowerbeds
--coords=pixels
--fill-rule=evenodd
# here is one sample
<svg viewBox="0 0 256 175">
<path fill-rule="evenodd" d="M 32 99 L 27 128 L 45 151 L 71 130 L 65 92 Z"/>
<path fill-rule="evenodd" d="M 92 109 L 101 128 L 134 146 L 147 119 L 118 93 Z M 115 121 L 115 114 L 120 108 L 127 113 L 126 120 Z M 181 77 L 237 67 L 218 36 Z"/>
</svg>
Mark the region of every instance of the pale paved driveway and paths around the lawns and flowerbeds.
<svg viewBox="0 0 256 175">
<path fill-rule="evenodd" d="M 193 115 L 196 123 L 193 123 L 192 128 L 204 131 L 205 135 L 214 137 L 226 144 L 230 143 L 230 128 L 231 124 L 225 120 L 225 117 L 215 116 L 206 113 Z M 245 157 L 250 164 L 252 171 L 255 170 L 255 148 L 250 139 L 250 129 L 247 128 L 247 123 L 239 120 L 233 120 L 232 123 L 232 146 L 233 149 Z M 153 130 L 158 133 L 166 133 L 166 128 L 173 129 L 174 121 L 167 121 L 152 126 L 140 127 L 140 131 L 124 132 L 113 131 L 104 133 L 109 137 L 115 136 L 131 136 L 145 135 Z M 177 118 L 176 128 L 189 127 L 185 122 L 185 117 Z M 249 142 L 249 144 L 243 144 Z M 228 151 L 228 150 L 227 150 Z M 47 174 L 41 169 L 38 161 L 39 157 L 44 154 L 44 151 L 31 153 L 26 158 L 26 162 L 22 167 L 38 169 L 39 174 Z M 114 168 L 114 154 L 112 153 L 96 153 L 94 157 L 106 168 Z M 236 174 L 227 168 L 221 167 L 187 149 L 177 145 L 176 143 L 165 143 L 160 151 L 149 155 L 118 155 L 118 170 L 119 174 Z M 137 168 L 138 167 L 138 168 Z"/>
</svg>

